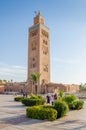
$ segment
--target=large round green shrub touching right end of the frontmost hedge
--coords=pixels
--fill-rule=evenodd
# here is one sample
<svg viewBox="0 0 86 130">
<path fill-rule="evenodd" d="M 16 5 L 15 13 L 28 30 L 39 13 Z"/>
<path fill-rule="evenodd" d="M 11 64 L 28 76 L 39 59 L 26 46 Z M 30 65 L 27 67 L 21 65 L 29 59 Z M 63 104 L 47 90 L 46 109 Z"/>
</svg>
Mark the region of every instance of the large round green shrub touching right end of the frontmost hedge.
<svg viewBox="0 0 86 130">
<path fill-rule="evenodd" d="M 60 118 L 64 115 L 66 115 L 66 113 L 69 111 L 67 103 L 62 101 L 62 100 L 55 101 L 54 102 L 54 108 L 58 112 L 57 118 Z"/>
</svg>

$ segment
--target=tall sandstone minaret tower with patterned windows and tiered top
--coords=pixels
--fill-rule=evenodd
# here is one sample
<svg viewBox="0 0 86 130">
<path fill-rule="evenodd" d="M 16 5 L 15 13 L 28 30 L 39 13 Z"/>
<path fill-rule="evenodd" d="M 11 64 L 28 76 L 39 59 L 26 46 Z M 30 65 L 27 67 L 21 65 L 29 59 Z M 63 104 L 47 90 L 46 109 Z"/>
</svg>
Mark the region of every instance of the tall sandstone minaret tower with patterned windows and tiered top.
<svg viewBox="0 0 86 130">
<path fill-rule="evenodd" d="M 38 93 L 41 93 L 42 83 L 50 82 L 50 35 L 40 12 L 28 33 L 28 80 L 33 72 L 41 74 L 38 86 Z"/>
</svg>

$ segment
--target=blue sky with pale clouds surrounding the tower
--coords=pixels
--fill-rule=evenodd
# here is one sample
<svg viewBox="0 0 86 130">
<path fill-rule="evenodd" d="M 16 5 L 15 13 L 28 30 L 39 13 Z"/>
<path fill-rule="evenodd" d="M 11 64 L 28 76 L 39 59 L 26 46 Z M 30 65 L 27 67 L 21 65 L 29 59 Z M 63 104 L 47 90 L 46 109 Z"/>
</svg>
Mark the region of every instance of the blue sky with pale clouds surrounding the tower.
<svg viewBox="0 0 86 130">
<path fill-rule="evenodd" d="M 0 79 L 27 79 L 28 28 L 50 28 L 51 81 L 86 82 L 86 0 L 0 0 Z"/>
</svg>

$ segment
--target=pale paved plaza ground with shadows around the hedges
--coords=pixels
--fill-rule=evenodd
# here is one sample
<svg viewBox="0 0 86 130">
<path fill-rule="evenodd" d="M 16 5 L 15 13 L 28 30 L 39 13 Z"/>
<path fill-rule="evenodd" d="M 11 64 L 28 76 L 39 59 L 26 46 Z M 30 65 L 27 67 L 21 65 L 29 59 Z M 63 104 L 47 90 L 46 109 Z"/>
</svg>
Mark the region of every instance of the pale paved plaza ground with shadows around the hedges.
<svg viewBox="0 0 86 130">
<path fill-rule="evenodd" d="M 52 122 L 29 119 L 25 114 L 26 107 L 14 102 L 13 95 L 0 95 L 1 130 L 86 130 L 86 103 L 82 110 Z"/>
</svg>

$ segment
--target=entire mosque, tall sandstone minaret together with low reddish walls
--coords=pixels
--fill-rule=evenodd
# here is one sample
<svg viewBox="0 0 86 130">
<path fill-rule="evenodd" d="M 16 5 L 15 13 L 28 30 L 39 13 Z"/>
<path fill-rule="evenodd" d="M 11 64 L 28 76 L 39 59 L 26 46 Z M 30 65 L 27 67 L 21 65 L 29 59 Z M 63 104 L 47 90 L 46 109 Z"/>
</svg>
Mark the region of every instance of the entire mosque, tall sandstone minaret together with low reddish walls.
<svg viewBox="0 0 86 130">
<path fill-rule="evenodd" d="M 52 52 L 51 52 L 52 53 Z M 34 17 L 34 22 L 28 31 L 28 76 L 26 82 L 0 84 L 0 93 L 4 91 L 36 93 L 30 75 L 34 72 L 41 74 L 37 93 L 56 93 L 79 91 L 79 85 L 60 84 L 50 81 L 50 31 L 45 25 L 45 19 L 40 12 Z"/>
</svg>

